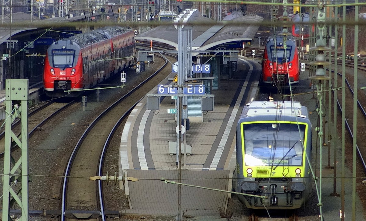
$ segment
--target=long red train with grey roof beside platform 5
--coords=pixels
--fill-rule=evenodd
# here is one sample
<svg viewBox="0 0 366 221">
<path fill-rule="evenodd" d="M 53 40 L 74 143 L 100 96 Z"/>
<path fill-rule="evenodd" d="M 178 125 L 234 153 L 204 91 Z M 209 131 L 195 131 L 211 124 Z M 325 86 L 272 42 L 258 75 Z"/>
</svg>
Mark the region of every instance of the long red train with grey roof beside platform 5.
<svg viewBox="0 0 366 221">
<path fill-rule="evenodd" d="M 132 30 L 105 27 L 54 42 L 44 62 L 46 95 L 77 97 L 80 91 L 64 91 L 89 89 L 132 65 L 134 36 Z"/>
</svg>

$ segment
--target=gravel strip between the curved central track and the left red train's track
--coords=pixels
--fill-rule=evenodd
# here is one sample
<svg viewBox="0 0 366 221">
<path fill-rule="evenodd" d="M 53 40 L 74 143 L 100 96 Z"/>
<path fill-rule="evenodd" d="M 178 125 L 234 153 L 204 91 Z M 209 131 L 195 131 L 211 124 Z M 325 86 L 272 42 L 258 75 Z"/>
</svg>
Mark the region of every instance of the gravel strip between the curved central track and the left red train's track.
<svg viewBox="0 0 366 221">
<path fill-rule="evenodd" d="M 156 58 L 153 68 L 160 67 L 163 63 L 162 59 Z M 82 111 L 82 104 L 76 103 L 68 109 L 67 113 L 63 112 L 52 119 L 42 127 L 42 131 L 38 131 L 29 139 L 29 173 L 41 175 L 32 176 L 32 182 L 29 183 L 30 210 L 59 209 L 61 178 L 44 177 L 44 175 L 62 176 L 71 150 L 89 123 L 117 98 L 150 76 L 153 68 L 146 68 L 146 71 L 141 74 L 135 73 L 132 69 L 125 70 L 127 73 L 126 87 L 102 90 L 100 102 L 96 102 L 96 96 L 93 93 L 87 94 L 88 103 L 85 112 Z M 120 85 L 119 76 L 107 83 L 109 86 Z M 13 156 L 17 158 L 19 150 L 15 151 Z M 1 165 L 3 162 L 3 159 L 0 159 Z M 3 173 L 2 167 L 0 173 Z M 3 190 L 2 183 L 0 189 Z M 46 218 L 34 219 L 48 220 Z"/>
</svg>

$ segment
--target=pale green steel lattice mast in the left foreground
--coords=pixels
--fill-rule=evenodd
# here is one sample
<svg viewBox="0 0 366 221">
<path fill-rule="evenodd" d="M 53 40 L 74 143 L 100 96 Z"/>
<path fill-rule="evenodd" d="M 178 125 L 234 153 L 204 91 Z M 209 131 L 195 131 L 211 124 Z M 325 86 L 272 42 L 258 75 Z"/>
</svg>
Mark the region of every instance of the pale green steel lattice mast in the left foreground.
<svg viewBox="0 0 366 221">
<path fill-rule="evenodd" d="M 28 208 L 28 79 L 5 80 L 5 153 L 3 179 L 3 220 L 9 217 L 12 205 L 22 211 L 20 221 L 29 220 Z M 21 132 L 12 131 L 12 123 L 21 121 Z M 18 159 L 12 157 L 12 146 L 21 149 Z M 20 185 L 18 184 L 20 183 Z"/>
</svg>

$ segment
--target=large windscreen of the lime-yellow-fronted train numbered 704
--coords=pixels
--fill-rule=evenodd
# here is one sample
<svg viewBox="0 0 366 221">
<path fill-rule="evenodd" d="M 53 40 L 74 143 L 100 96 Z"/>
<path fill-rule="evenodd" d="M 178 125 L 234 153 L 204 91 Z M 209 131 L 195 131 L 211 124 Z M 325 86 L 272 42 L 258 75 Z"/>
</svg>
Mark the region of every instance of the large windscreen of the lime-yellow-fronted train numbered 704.
<svg viewBox="0 0 366 221">
<path fill-rule="evenodd" d="M 301 166 L 303 124 L 243 124 L 246 166 Z"/>
</svg>

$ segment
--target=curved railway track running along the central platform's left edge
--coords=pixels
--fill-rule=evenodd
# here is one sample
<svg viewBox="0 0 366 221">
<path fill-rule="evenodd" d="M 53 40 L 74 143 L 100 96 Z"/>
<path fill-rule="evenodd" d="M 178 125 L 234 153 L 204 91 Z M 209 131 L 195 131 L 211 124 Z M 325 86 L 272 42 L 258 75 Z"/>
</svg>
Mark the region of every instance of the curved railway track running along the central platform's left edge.
<svg viewBox="0 0 366 221">
<path fill-rule="evenodd" d="M 101 218 L 101 220 L 105 220 L 106 217 L 119 217 L 119 211 L 105 213 L 101 181 L 93 182 L 72 177 L 95 176 L 96 174 L 102 176 L 104 154 L 113 134 L 141 98 L 158 85 L 162 78 L 165 78 L 163 76 L 165 74 L 162 74 L 161 70 L 167 64 L 166 60 L 158 71 L 109 106 L 79 138 L 64 172 L 65 178 L 61 187 L 61 221 L 66 218 Z M 169 68 L 167 67 L 167 69 Z M 170 72 L 170 69 L 165 71 L 169 74 Z M 79 210 L 80 212 L 71 210 Z M 88 212 L 83 212 L 85 210 Z"/>
</svg>

